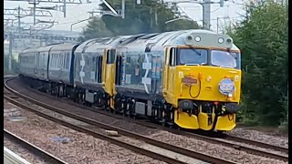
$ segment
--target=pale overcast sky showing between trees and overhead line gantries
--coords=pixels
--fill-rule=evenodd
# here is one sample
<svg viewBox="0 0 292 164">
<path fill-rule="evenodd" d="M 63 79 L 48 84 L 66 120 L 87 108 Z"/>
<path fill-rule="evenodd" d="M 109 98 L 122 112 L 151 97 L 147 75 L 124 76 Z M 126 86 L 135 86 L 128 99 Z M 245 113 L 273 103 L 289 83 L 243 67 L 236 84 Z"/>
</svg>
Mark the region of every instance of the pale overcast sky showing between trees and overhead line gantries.
<svg viewBox="0 0 292 164">
<path fill-rule="evenodd" d="M 77 0 L 78 1 L 78 0 Z M 100 0 L 90 0 L 91 4 L 86 4 L 86 0 L 82 0 L 83 4 L 81 5 L 67 5 L 67 17 L 63 17 L 62 12 L 56 12 L 51 11 L 52 17 L 37 17 L 37 19 L 40 20 L 50 20 L 50 21 L 56 21 L 58 24 L 53 26 L 52 30 L 70 30 L 70 26 L 73 23 L 76 23 L 80 20 L 84 20 L 89 18 L 89 11 L 92 11 L 94 9 L 97 9 L 99 7 Z M 121 0 L 117 0 L 120 1 Z M 146 0 L 141 0 L 146 1 Z M 183 0 L 164 0 L 167 1 L 176 1 L 180 2 Z M 203 0 L 199 0 L 202 2 Z M 218 2 L 219 0 L 212 0 L 212 2 Z M 12 9 L 16 8 L 18 5 L 20 7 L 28 9 L 28 7 L 31 7 L 32 5 L 29 5 L 27 2 L 13 2 L 13 1 L 4 1 L 4 7 Z M 40 5 L 37 6 L 53 6 L 53 5 L 62 5 L 62 4 L 49 4 L 49 3 L 40 3 Z M 203 15 L 203 8 L 202 5 L 195 4 L 195 3 L 182 3 L 179 4 L 179 6 L 183 9 L 183 11 L 189 15 L 193 20 L 197 21 L 199 25 L 202 26 L 202 15 Z M 229 0 L 224 3 L 224 7 L 220 7 L 219 4 L 213 4 L 211 5 L 211 29 L 216 31 L 217 29 L 217 17 L 224 17 L 228 16 L 233 19 L 233 21 L 241 20 L 242 18 L 239 17 L 238 14 L 245 14 L 245 11 L 243 10 L 243 0 Z M 126 5 L 127 7 L 127 5 Z M 14 16 L 7 16 L 5 15 L 5 18 L 16 18 Z M 23 22 L 33 22 L 33 17 L 25 17 L 22 18 L 21 21 Z M 226 21 L 226 20 L 225 20 Z M 86 26 L 88 21 L 79 23 L 77 25 L 73 26 L 73 31 L 81 32 L 82 28 Z M 219 18 L 219 26 L 224 24 L 224 19 Z"/>
</svg>

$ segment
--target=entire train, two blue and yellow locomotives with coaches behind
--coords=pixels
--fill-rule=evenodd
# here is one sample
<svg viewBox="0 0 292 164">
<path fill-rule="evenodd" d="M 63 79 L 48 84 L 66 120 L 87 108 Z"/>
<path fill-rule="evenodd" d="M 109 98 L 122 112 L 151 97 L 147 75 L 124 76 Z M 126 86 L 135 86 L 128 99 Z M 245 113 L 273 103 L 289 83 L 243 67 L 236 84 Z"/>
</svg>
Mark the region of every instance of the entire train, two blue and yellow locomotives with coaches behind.
<svg viewBox="0 0 292 164">
<path fill-rule="evenodd" d="M 165 126 L 235 128 L 241 55 L 207 30 L 95 38 L 29 48 L 20 76 L 31 87 Z"/>
</svg>

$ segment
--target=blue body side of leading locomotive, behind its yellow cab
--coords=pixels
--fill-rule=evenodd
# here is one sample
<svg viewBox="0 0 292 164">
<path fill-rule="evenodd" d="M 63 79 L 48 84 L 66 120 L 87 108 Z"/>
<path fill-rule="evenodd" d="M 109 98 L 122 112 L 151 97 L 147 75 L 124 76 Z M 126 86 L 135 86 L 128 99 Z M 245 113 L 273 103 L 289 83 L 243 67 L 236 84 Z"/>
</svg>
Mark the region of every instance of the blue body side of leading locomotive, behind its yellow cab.
<svg viewBox="0 0 292 164">
<path fill-rule="evenodd" d="M 153 106 L 162 97 L 162 45 L 181 32 L 141 35 L 117 47 L 114 109 L 127 115 L 153 118 Z"/>
</svg>

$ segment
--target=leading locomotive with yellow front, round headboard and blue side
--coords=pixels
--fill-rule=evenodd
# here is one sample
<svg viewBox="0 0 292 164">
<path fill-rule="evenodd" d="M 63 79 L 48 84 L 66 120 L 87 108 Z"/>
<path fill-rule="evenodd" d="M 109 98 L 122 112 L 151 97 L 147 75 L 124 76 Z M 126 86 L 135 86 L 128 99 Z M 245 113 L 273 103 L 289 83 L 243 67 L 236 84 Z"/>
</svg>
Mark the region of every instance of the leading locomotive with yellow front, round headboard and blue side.
<svg viewBox="0 0 292 164">
<path fill-rule="evenodd" d="M 205 30 L 142 37 L 117 47 L 116 111 L 181 128 L 235 128 L 241 70 L 232 38 Z"/>
</svg>

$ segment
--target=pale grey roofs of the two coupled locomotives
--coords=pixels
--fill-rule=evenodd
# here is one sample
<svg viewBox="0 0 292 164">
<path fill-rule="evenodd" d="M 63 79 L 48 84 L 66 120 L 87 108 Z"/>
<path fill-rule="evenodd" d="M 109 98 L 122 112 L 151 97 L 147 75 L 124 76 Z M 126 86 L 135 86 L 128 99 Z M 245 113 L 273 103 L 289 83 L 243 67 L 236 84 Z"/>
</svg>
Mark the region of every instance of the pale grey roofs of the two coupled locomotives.
<svg viewBox="0 0 292 164">
<path fill-rule="evenodd" d="M 187 38 L 192 36 L 193 40 Z M 201 36 L 200 41 L 195 42 L 194 37 Z M 113 48 L 113 47 L 128 47 L 134 49 L 144 49 L 146 46 L 151 45 L 152 49 L 162 49 L 163 46 L 214 46 L 214 47 L 227 47 L 226 44 L 218 44 L 218 38 L 231 39 L 231 44 L 228 46 L 231 50 L 239 50 L 232 42 L 230 36 L 216 34 L 209 30 L 203 29 L 190 29 L 179 30 L 164 33 L 152 34 L 139 34 L 132 36 L 115 36 L 115 37 L 101 37 L 94 38 L 80 44 L 76 53 L 81 52 L 94 52 L 98 48 Z"/>
</svg>

